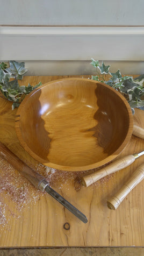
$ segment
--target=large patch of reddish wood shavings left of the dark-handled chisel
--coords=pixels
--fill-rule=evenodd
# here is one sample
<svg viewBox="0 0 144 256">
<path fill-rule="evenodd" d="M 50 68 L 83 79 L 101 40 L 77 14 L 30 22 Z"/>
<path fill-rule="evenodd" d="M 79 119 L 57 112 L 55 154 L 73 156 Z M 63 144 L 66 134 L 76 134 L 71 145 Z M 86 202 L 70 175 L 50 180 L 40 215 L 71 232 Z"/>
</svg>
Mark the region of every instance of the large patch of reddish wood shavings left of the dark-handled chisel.
<svg viewBox="0 0 144 256">
<path fill-rule="evenodd" d="M 0 158 L 0 225 L 8 224 L 9 216 L 20 218 L 20 211 L 25 205 L 37 202 L 42 195 L 27 179 L 14 169 L 8 162 Z M 17 215 L 9 209 L 9 202 L 15 204 Z"/>
</svg>

